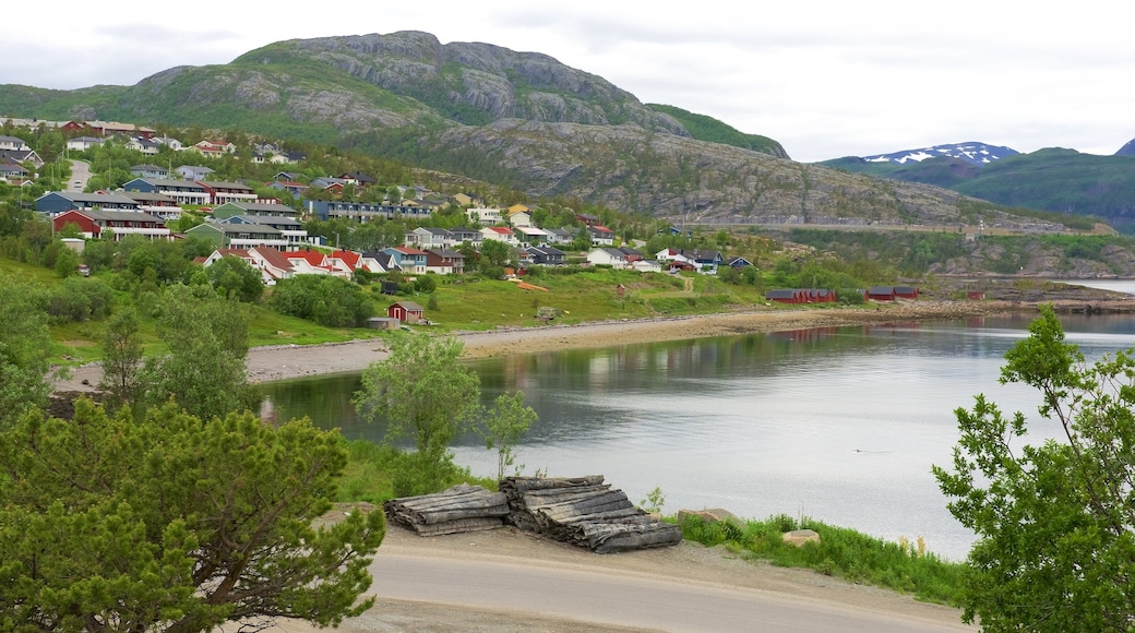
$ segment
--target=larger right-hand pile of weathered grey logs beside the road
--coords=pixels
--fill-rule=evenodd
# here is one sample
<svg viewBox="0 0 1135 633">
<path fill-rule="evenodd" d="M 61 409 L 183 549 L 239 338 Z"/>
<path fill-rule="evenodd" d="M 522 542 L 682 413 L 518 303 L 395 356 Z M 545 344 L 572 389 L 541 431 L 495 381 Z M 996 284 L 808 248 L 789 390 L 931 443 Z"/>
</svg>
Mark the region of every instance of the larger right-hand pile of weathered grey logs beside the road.
<svg viewBox="0 0 1135 633">
<path fill-rule="evenodd" d="M 625 492 L 603 483 L 603 475 L 510 476 L 501 482 L 501 491 L 508 500 L 508 523 L 596 554 L 682 541 L 680 528 L 636 507 Z"/>
</svg>

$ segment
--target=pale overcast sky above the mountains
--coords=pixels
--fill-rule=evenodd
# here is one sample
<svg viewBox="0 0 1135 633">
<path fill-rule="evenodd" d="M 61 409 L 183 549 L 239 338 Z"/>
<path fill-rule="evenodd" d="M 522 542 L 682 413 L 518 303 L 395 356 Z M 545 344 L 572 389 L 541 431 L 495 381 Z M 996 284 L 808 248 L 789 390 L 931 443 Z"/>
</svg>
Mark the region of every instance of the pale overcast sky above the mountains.
<svg viewBox="0 0 1135 633">
<path fill-rule="evenodd" d="M 20 2 L 5 11 L 0 84 L 133 85 L 280 40 L 424 31 L 549 54 L 805 162 L 968 141 L 1112 154 L 1135 137 L 1133 14 L 1099 0 Z"/>
</svg>

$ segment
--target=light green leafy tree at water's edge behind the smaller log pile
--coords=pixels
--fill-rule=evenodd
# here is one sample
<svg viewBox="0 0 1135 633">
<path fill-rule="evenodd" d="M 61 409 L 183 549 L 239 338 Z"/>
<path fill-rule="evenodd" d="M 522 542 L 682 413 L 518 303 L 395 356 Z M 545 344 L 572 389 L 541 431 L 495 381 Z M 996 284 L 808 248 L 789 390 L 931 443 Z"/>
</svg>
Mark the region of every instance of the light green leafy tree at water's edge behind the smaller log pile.
<svg viewBox="0 0 1135 633">
<path fill-rule="evenodd" d="M 409 438 L 423 457 L 443 462 L 480 395 L 480 378 L 460 362 L 464 347 L 455 337 L 398 332 L 389 356 L 362 373 L 352 398 L 360 417 L 385 419 L 387 441 Z"/>
</svg>

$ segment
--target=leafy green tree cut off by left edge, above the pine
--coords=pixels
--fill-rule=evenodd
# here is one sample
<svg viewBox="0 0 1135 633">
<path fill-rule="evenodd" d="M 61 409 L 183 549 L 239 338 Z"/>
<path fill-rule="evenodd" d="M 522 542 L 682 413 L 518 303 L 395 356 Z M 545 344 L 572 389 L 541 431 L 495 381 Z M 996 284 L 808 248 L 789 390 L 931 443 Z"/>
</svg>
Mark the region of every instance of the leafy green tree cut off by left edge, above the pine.
<svg viewBox="0 0 1135 633">
<path fill-rule="evenodd" d="M 39 288 L 0 275 L 0 429 L 26 410 L 42 407 L 51 395 L 47 380 L 52 348 L 48 314 Z"/>
</svg>

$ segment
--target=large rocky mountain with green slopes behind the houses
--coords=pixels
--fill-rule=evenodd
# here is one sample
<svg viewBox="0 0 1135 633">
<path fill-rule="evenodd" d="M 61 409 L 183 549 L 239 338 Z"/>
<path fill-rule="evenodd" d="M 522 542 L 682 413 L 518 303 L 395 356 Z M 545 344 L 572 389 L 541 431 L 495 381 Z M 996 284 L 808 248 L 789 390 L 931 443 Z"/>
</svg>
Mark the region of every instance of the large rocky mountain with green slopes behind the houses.
<svg viewBox="0 0 1135 633">
<path fill-rule="evenodd" d="M 329 143 L 696 222 L 1051 227 L 935 186 L 793 162 L 771 138 L 644 104 L 546 54 L 420 32 L 277 42 L 134 86 L 0 86 L 0 112 Z"/>
</svg>

